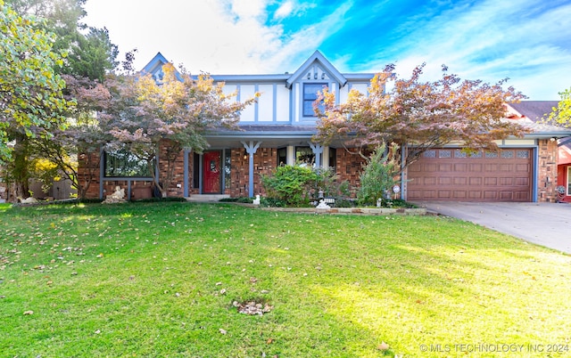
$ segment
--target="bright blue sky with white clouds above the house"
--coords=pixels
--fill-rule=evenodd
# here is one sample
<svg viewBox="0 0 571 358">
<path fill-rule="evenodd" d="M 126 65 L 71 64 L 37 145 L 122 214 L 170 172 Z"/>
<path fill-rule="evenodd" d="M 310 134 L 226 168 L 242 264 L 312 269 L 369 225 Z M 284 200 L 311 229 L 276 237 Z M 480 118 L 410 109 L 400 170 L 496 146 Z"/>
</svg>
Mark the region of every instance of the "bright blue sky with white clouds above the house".
<svg viewBox="0 0 571 358">
<path fill-rule="evenodd" d="M 192 73 L 293 72 L 315 50 L 342 72 L 400 77 L 426 62 L 508 85 L 530 100 L 571 87 L 571 0 L 87 0 L 84 21 L 110 31 L 136 68 L 161 52 Z M 121 54 L 122 56 L 122 54 Z"/>
</svg>

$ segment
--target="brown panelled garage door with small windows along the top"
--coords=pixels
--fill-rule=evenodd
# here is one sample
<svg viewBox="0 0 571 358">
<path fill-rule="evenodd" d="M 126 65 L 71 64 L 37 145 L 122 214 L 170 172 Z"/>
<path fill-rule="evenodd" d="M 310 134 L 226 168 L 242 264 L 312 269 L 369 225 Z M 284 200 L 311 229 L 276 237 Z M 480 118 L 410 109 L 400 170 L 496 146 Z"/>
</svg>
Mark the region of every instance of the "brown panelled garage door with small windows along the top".
<svg viewBox="0 0 571 358">
<path fill-rule="evenodd" d="M 409 201 L 532 201 L 532 150 L 430 150 L 410 165 L 408 178 Z"/>
</svg>

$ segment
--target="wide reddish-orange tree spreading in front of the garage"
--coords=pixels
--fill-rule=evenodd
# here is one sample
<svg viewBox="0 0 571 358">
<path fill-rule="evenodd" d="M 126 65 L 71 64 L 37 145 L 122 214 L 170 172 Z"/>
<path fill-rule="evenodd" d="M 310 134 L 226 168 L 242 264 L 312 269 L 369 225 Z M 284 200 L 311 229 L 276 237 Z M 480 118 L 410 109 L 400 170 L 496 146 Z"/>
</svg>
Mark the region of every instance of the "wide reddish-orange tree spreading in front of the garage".
<svg viewBox="0 0 571 358">
<path fill-rule="evenodd" d="M 424 66 L 408 79 L 397 79 L 389 65 L 371 79 L 368 94 L 352 90 L 342 104 L 325 88 L 318 99 L 324 110 L 314 105 L 320 119 L 315 140 L 342 140 L 363 156 L 384 143 L 406 146 L 402 170 L 431 148 L 460 142 L 467 151 L 492 151 L 498 148 L 495 140 L 525 134 L 525 128 L 504 119 L 504 104 L 525 98 L 513 87 L 504 90 L 506 80 L 495 85 L 462 81 L 443 66 L 442 78 L 422 82 Z M 385 91 L 391 81 L 392 89 Z"/>
</svg>

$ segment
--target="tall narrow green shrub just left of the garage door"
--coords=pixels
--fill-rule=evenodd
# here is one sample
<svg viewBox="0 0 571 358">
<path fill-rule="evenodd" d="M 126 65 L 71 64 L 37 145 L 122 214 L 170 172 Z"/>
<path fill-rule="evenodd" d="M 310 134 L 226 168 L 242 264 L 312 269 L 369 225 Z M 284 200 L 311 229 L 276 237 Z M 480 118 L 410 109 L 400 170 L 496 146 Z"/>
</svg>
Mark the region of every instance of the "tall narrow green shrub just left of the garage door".
<svg viewBox="0 0 571 358">
<path fill-rule="evenodd" d="M 393 144 L 387 151 L 383 144 L 367 159 L 360 175 L 360 191 L 357 194 L 360 204 L 375 205 L 377 199 L 384 199 L 390 194 L 399 172 L 396 151 L 396 145 Z"/>
</svg>

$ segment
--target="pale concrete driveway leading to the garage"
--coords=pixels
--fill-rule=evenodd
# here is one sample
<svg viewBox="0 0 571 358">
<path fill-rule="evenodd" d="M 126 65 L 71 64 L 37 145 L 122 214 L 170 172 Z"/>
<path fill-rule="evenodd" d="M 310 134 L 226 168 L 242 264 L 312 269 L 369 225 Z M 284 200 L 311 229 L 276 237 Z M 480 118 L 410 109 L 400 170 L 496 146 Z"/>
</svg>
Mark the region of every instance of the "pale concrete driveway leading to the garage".
<svg viewBox="0 0 571 358">
<path fill-rule="evenodd" d="M 420 207 L 571 254 L 571 205 L 556 203 L 415 202 Z"/>
</svg>

